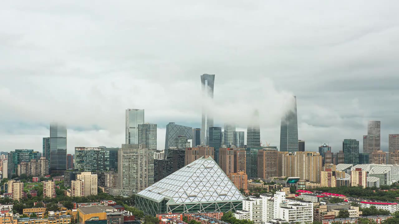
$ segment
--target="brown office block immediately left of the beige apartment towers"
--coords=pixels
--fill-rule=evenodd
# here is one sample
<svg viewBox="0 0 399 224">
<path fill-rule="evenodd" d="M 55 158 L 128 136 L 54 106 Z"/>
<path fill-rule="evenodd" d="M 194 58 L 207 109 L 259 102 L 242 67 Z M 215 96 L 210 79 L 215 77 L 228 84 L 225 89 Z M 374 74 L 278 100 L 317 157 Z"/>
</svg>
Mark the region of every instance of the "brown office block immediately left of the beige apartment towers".
<svg viewBox="0 0 399 224">
<path fill-rule="evenodd" d="M 277 149 L 258 151 L 258 177 L 267 179 L 279 176 L 279 152 Z"/>
</svg>

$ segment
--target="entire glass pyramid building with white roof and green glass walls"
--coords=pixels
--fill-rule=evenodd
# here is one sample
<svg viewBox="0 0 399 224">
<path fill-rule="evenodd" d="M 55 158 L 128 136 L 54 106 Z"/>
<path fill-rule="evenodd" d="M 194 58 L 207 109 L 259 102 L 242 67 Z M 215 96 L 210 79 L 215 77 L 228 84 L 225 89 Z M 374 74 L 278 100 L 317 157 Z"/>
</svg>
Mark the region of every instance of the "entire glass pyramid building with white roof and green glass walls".
<svg viewBox="0 0 399 224">
<path fill-rule="evenodd" d="M 219 165 L 211 157 L 201 157 L 137 193 L 136 207 L 152 216 L 234 212 L 242 209 L 243 199 Z"/>
</svg>

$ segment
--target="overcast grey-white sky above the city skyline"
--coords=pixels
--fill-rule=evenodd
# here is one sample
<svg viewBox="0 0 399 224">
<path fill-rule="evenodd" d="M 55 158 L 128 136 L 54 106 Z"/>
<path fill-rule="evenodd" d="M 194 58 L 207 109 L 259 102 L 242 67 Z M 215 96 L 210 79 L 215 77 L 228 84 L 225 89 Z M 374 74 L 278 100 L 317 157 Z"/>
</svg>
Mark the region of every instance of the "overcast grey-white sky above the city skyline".
<svg viewBox="0 0 399 224">
<path fill-rule="evenodd" d="M 360 141 L 381 120 L 399 133 L 398 1 L 8 1 L 0 7 L 0 151 L 35 149 L 49 122 L 76 146 L 120 147 L 126 108 L 165 126 L 201 124 L 203 73 L 215 74 L 215 125 L 279 147 L 296 95 L 306 150 Z"/>
</svg>

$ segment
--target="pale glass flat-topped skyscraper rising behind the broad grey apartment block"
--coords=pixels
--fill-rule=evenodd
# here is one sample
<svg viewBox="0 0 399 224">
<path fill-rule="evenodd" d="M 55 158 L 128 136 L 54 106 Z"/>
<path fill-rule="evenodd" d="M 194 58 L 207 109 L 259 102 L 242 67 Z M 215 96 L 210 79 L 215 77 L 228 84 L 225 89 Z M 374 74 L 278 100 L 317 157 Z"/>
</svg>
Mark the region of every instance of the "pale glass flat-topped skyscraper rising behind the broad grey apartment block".
<svg viewBox="0 0 399 224">
<path fill-rule="evenodd" d="M 139 124 L 144 124 L 144 110 L 126 109 L 126 144 L 138 144 Z"/>
</svg>

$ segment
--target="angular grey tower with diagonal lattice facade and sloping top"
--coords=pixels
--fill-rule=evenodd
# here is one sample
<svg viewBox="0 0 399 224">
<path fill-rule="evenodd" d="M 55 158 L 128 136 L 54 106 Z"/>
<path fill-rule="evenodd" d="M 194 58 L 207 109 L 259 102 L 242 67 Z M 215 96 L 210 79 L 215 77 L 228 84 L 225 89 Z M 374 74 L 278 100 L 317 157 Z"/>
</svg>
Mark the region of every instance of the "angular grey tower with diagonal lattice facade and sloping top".
<svg viewBox="0 0 399 224">
<path fill-rule="evenodd" d="M 178 147 L 175 145 L 175 139 L 179 136 L 186 136 L 187 139 L 193 139 L 193 128 L 178 125 L 173 122 L 166 125 L 165 154 L 168 154 L 168 149 L 170 147 Z"/>
</svg>

